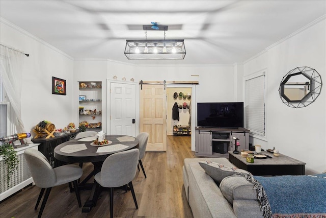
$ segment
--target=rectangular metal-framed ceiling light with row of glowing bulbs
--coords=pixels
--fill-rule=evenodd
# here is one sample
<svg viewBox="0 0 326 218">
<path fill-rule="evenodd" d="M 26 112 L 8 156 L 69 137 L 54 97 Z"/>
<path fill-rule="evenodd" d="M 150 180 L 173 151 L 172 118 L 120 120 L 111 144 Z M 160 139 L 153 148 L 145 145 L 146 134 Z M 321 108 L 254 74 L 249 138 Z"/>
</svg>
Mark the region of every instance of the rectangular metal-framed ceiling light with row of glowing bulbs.
<svg viewBox="0 0 326 218">
<path fill-rule="evenodd" d="M 143 25 L 145 39 L 127 39 L 124 54 L 129 60 L 182 60 L 184 39 L 165 39 L 168 26 Z M 147 31 L 164 31 L 164 39 L 147 39 Z"/>
</svg>

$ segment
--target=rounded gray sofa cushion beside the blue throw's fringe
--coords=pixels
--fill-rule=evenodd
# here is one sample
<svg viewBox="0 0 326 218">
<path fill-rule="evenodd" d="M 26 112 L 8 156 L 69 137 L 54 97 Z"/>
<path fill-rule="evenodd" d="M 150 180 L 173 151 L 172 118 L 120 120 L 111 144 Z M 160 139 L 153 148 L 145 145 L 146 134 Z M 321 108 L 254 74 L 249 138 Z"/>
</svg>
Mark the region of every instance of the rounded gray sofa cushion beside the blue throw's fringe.
<svg viewBox="0 0 326 218">
<path fill-rule="evenodd" d="M 243 176 L 233 175 L 224 178 L 220 183 L 220 190 L 231 204 L 237 199 L 258 200 L 254 184 L 247 181 Z"/>
</svg>

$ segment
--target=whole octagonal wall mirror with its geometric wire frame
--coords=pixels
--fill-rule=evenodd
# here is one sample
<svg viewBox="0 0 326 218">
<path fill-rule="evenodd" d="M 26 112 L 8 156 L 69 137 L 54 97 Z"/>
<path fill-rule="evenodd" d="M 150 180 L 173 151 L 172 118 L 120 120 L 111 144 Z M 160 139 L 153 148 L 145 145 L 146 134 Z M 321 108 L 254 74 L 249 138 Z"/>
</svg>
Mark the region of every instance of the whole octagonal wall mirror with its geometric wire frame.
<svg viewBox="0 0 326 218">
<path fill-rule="evenodd" d="M 320 75 L 315 69 L 297 67 L 283 77 L 279 88 L 280 98 L 289 107 L 306 107 L 316 100 L 321 85 Z"/>
</svg>

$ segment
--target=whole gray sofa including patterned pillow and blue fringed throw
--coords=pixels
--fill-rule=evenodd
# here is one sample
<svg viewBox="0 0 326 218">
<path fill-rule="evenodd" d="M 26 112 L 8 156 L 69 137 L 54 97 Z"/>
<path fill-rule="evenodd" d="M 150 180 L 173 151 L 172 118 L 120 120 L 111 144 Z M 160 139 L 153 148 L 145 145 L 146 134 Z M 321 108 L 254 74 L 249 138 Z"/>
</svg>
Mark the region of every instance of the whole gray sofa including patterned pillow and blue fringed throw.
<svg viewBox="0 0 326 218">
<path fill-rule="evenodd" d="M 183 182 L 194 217 L 326 217 L 326 173 L 254 176 L 226 158 L 187 158 Z"/>
</svg>

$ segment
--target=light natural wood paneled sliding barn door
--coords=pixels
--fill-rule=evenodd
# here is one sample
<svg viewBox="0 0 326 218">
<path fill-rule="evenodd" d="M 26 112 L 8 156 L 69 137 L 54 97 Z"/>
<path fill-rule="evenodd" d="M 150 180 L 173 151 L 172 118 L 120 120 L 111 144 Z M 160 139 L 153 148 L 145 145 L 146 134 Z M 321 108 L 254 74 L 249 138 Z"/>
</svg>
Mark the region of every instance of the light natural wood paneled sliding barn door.
<svg viewBox="0 0 326 218">
<path fill-rule="evenodd" d="M 164 85 L 142 85 L 140 131 L 149 134 L 146 151 L 167 150 L 166 99 Z"/>
</svg>

